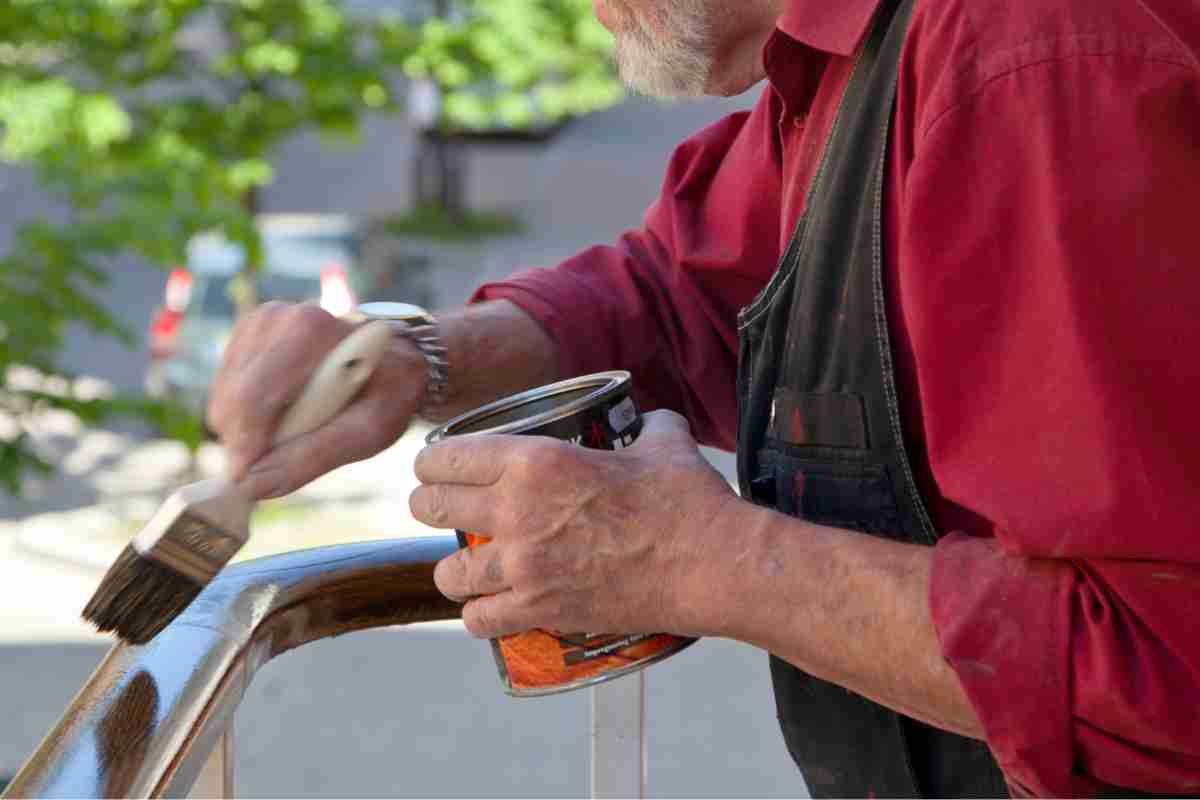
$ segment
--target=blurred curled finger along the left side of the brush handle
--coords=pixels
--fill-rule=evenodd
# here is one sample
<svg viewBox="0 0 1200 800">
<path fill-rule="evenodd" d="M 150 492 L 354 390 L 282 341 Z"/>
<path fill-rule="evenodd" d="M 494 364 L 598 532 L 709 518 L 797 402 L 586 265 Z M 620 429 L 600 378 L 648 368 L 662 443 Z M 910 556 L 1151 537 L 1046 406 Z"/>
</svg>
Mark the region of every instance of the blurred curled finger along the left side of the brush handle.
<svg viewBox="0 0 1200 800">
<path fill-rule="evenodd" d="M 229 451 L 230 470 L 241 477 L 246 468 L 270 447 L 271 437 L 288 405 L 304 389 L 320 360 L 353 326 L 316 306 L 295 306 L 280 314 L 280 333 L 232 378 L 227 392 L 233 408 L 222 408 L 228 420 L 222 441 Z"/>
</svg>

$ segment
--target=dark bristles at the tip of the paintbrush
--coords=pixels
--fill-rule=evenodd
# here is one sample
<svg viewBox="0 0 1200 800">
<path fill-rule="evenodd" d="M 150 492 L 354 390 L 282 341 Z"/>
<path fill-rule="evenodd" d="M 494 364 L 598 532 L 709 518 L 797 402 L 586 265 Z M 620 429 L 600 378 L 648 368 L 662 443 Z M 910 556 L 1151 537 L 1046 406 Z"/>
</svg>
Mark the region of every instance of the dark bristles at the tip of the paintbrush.
<svg viewBox="0 0 1200 800">
<path fill-rule="evenodd" d="M 102 632 L 145 644 L 187 608 L 204 587 L 127 546 L 108 569 L 83 618 Z"/>
</svg>

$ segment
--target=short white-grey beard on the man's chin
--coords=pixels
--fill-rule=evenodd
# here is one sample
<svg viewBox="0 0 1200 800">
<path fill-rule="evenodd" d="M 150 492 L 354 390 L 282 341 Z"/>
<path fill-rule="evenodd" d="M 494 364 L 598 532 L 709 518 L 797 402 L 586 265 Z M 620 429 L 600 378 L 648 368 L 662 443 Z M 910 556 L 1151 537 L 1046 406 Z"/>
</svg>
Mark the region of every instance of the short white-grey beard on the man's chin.
<svg viewBox="0 0 1200 800">
<path fill-rule="evenodd" d="M 622 80 L 650 97 L 703 97 L 715 59 L 715 31 L 703 0 L 661 0 L 654 13 L 665 35 L 638 16 L 616 36 Z"/>
</svg>

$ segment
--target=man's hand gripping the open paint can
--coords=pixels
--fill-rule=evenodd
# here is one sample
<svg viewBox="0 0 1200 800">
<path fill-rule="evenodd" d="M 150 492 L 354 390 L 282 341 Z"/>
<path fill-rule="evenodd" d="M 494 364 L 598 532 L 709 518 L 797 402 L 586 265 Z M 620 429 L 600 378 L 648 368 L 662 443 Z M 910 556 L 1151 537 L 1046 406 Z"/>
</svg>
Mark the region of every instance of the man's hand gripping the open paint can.
<svg viewBox="0 0 1200 800">
<path fill-rule="evenodd" d="M 634 446 L 614 452 L 466 437 L 425 449 L 415 468 L 418 519 L 493 540 L 433 575 L 448 597 L 468 601 L 473 634 L 698 633 L 688 615 L 691 565 L 738 499 L 678 414 L 646 415 Z"/>
</svg>

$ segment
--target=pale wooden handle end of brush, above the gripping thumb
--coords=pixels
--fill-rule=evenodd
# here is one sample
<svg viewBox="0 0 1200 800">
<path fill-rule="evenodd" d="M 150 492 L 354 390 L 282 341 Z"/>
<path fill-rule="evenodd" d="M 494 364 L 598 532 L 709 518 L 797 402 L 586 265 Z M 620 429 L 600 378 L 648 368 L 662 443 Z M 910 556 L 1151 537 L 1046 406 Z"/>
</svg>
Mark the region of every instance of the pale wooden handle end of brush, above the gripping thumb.
<svg viewBox="0 0 1200 800">
<path fill-rule="evenodd" d="M 275 432 L 274 445 L 316 431 L 334 419 L 371 379 L 395 336 L 384 321 L 367 323 L 338 343 L 308 377 Z"/>
</svg>

